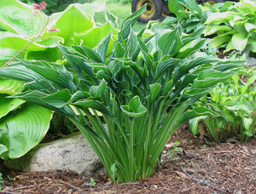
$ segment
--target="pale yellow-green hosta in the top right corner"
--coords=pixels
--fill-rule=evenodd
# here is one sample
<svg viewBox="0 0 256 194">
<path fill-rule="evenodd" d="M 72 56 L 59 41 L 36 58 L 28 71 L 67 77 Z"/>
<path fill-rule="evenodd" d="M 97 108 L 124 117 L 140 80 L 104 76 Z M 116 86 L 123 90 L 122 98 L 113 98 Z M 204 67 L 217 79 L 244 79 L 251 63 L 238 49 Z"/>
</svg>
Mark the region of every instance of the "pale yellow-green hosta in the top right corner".
<svg viewBox="0 0 256 194">
<path fill-rule="evenodd" d="M 242 53 L 256 52 L 256 1 L 241 0 L 222 13 L 207 18 L 204 35 L 216 35 L 211 46 L 236 49 Z"/>
</svg>

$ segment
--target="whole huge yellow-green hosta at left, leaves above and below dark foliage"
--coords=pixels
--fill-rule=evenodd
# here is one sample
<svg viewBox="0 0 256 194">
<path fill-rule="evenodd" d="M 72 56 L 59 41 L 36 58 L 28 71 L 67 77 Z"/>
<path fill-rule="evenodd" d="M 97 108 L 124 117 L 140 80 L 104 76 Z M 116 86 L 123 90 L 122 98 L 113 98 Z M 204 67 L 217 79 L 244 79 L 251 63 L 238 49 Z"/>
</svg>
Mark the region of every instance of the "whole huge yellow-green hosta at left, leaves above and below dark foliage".
<svg viewBox="0 0 256 194">
<path fill-rule="evenodd" d="M 94 48 L 110 31 L 113 34 L 116 31 L 109 22 L 96 25 L 93 10 L 98 10 L 95 9 L 97 3 L 73 4 L 50 16 L 43 13 L 45 6 L 45 3 L 31 6 L 18 0 L 0 1 L 0 69 L 8 64 L 8 60 L 55 62 L 62 59 L 55 41 Z M 53 112 L 41 106 L 5 98 L 24 88 L 23 81 L 0 77 L 0 157 L 5 159 L 20 157 L 38 145 L 52 118 Z"/>
</svg>

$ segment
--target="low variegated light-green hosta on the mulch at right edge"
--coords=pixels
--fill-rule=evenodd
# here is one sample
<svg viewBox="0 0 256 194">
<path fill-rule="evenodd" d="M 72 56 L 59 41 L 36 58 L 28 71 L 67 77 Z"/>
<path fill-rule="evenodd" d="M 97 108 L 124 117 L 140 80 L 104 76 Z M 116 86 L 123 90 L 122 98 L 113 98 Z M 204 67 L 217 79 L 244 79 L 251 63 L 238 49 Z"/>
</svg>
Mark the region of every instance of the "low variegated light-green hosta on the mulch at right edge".
<svg viewBox="0 0 256 194">
<path fill-rule="evenodd" d="M 190 129 L 194 135 L 198 133 L 200 121 L 209 137 L 218 143 L 228 138 L 247 141 L 256 134 L 256 71 L 251 67 L 242 74 L 243 79 L 236 75 L 228 83 L 219 83 L 218 87 L 193 106 L 209 107 L 215 112 L 214 116 L 190 120 Z"/>
</svg>

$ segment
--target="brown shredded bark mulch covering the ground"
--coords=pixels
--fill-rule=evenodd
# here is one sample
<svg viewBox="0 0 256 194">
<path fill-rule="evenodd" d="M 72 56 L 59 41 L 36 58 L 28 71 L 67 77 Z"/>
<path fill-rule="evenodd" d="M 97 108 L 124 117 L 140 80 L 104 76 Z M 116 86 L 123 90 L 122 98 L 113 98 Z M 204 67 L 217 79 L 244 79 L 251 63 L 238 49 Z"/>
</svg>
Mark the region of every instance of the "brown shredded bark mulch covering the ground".
<svg viewBox="0 0 256 194">
<path fill-rule="evenodd" d="M 256 193 L 256 140 L 216 145 L 201 137 L 179 128 L 166 144 L 160 168 L 135 183 L 114 185 L 106 174 L 5 169 L 0 193 Z"/>
</svg>

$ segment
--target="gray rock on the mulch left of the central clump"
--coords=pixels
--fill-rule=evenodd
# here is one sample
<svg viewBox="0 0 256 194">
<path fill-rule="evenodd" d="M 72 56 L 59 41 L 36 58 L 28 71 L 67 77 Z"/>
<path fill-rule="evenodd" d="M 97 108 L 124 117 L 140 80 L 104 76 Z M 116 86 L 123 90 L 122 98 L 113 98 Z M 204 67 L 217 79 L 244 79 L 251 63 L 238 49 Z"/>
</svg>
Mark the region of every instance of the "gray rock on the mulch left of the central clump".
<svg viewBox="0 0 256 194">
<path fill-rule="evenodd" d="M 103 166 L 83 134 L 75 133 L 65 139 L 36 146 L 25 156 L 6 160 L 4 165 L 20 171 L 73 170 L 79 174 L 103 172 Z"/>
</svg>

